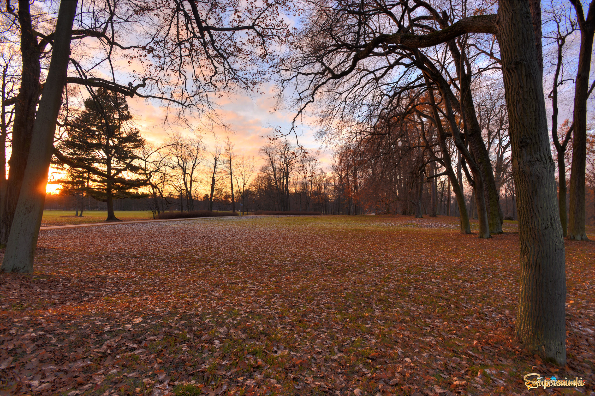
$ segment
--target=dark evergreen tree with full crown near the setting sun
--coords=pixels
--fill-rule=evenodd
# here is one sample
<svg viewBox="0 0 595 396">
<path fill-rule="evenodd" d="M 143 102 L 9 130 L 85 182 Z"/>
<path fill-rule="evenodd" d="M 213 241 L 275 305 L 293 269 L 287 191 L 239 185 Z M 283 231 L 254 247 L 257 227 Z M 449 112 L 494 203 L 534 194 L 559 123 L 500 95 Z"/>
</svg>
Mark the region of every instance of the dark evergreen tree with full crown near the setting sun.
<svg viewBox="0 0 595 396">
<path fill-rule="evenodd" d="M 67 125 L 67 137 L 57 144 L 66 156 L 105 174 L 99 177 L 72 169 L 65 180 L 67 186 L 82 188 L 107 203 L 105 221 L 119 221 L 114 215 L 114 199 L 146 195 L 138 192 L 143 180 L 131 178 L 142 171 L 137 152 L 145 144 L 140 131 L 130 125 L 131 119 L 126 96 L 99 89 L 84 101 L 83 111 Z"/>
</svg>

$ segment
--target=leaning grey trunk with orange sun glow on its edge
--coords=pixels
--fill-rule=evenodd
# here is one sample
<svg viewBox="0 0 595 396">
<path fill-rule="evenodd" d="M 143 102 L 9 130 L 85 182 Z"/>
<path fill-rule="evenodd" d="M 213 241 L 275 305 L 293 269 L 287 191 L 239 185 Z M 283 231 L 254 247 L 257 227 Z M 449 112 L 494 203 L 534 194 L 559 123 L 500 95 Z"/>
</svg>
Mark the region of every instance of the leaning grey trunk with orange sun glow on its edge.
<svg viewBox="0 0 595 396">
<path fill-rule="evenodd" d="M 76 1 L 60 3 L 48 79 L 33 123 L 29 158 L 2 260 L 2 272 L 33 272 L 33 256 L 43 215 L 49 162 L 54 151 L 56 121 L 66 83 L 76 7 Z"/>
</svg>

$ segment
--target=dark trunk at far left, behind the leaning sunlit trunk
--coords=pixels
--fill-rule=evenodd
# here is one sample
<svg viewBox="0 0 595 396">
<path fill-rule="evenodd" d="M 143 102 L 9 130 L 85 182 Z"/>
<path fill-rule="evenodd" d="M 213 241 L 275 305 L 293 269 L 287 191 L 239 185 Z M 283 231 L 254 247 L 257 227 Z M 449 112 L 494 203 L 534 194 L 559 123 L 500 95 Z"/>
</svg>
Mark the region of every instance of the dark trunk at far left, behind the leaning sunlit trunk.
<svg viewBox="0 0 595 396">
<path fill-rule="evenodd" d="M 14 106 L 12 123 L 12 152 L 8 165 L 8 180 L 2 191 L 0 221 L 0 246 L 5 246 L 17 208 L 18 194 L 23 184 L 23 175 L 29 157 L 29 146 L 35 121 L 35 109 L 39 98 L 39 45 L 33 32 L 29 1 L 18 2 L 18 23 L 21 27 L 21 61 L 23 74 Z"/>
</svg>

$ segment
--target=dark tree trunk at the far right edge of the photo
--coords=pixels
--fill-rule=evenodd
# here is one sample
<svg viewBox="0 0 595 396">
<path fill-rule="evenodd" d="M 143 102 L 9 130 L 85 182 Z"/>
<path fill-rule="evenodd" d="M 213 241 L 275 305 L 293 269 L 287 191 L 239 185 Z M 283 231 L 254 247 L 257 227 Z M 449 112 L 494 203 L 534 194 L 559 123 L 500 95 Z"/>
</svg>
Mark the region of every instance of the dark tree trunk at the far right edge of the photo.
<svg viewBox="0 0 595 396">
<path fill-rule="evenodd" d="M 587 96 L 593 33 L 595 32 L 594 2 L 591 1 L 584 19 L 583 6 L 573 1 L 581 28 L 581 49 L 578 55 L 577 80 L 574 90 L 574 130 L 572 131 L 572 164 L 570 169 L 570 213 L 568 239 L 587 240 L 585 232 L 585 166 L 587 165 Z"/>
</svg>

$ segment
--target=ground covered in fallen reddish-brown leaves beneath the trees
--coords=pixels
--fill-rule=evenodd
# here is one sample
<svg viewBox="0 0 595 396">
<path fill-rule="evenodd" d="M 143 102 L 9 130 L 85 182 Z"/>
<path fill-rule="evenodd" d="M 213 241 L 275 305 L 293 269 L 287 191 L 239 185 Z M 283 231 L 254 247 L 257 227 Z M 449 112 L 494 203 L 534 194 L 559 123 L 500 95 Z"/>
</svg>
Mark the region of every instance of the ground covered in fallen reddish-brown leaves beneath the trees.
<svg viewBox="0 0 595 396">
<path fill-rule="evenodd" d="M 2 394 L 593 394 L 593 242 L 566 242 L 568 364 L 514 338 L 518 234 L 245 216 L 40 232 L 1 279 Z"/>
</svg>

